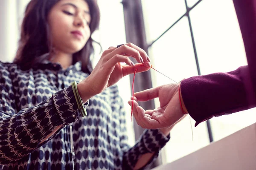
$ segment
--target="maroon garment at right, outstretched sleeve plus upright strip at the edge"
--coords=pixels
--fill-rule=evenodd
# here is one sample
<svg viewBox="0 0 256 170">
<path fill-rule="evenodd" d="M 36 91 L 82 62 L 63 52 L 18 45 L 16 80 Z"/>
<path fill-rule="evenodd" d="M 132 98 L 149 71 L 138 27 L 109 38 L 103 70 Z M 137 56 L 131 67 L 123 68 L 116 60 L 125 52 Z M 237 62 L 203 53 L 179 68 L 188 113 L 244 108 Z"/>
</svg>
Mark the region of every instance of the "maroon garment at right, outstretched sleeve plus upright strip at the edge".
<svg viewBox="0 0 256 170">
<path fill-rule="evenodd" d="M 191 77 L 181 82 L 186 108 L 200 122 L 256 107 L 256 0 L 233 0 L 248 66 L 229 73 Z"/>
</svg>

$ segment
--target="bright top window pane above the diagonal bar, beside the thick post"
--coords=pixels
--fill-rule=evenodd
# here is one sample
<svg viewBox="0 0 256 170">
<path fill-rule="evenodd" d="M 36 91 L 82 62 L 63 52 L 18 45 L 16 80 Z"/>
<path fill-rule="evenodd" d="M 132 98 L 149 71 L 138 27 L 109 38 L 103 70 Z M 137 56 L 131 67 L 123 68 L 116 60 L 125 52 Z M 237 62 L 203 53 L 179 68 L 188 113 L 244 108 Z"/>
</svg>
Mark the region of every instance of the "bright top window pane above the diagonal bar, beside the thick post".
<svg viewBox="0 0 256 170">
<path fill-rule="evenodd" d="M 142 0 L 142 7 L 149 43 L 186 13 L 184 0 Z"/>
</svg>

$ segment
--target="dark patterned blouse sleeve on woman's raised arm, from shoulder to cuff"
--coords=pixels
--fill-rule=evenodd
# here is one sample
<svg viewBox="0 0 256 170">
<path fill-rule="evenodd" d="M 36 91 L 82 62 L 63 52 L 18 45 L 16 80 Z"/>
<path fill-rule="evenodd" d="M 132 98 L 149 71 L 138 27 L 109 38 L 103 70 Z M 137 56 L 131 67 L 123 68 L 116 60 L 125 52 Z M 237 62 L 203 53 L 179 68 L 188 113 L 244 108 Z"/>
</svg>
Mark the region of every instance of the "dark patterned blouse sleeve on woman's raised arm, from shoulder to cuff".
<svg viewBox="0 0 256 170">
<path fill-rule="evenodd" d="M 14 85 L 15 67 L 0 63 L 0 164 L 21 159 L 52 139 L 60 130 L 57 127 L 75 122 L 79 117 L 72 87 L 58 91 L 38 105 L 20 109 L 22 101 L 18 99 L 24 95 L 20 94 L 24 85 L 22 80 Z"/>
</svg>

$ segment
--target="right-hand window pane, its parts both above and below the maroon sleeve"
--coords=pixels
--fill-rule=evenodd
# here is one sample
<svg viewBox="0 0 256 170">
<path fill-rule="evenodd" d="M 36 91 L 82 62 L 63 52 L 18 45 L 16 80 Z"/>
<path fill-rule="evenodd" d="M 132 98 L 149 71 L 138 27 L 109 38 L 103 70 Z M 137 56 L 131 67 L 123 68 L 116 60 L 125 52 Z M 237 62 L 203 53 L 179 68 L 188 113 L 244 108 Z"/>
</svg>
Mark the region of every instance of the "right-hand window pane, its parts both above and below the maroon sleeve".
<svg viewBox="0 0 256 170">
<path fill-rule="evenodd" d="M 232 0 L 203 0 L 190 16 L 202 74 L 228 72 L 247 65 Z M 214 140 L 254 123 L 255 113 L 256 109 L 251 109 L 211 119 Z"/>
</svg>

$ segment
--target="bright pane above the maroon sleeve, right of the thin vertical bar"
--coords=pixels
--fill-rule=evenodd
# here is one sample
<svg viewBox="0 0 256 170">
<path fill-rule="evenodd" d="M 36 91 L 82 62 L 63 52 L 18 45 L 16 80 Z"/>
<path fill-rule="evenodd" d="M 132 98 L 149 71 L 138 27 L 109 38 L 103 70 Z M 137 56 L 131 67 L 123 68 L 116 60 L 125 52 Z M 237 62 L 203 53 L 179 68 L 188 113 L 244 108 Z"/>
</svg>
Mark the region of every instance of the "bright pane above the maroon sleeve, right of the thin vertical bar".
<svg viewBox="0 0 256 170">
<path fill-rule="evenodd" d="M 232 0 L 203 0 L 190 17 L 202 74 L 247 65 Z"/>
</svg>

